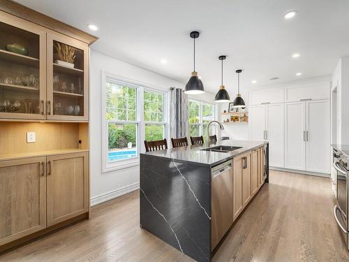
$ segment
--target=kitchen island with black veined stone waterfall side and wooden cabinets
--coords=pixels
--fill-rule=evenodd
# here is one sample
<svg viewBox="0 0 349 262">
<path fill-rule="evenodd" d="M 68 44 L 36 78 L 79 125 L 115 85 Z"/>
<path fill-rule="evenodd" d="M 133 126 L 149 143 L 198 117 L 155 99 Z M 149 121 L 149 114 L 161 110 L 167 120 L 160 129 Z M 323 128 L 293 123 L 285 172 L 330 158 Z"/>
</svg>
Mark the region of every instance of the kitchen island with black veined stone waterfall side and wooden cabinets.
<svg viewBox="0 0 349 262">
<path fill-rule="evenodd" d="M 225 140 L 140 154 L 140 226 L 196 261 L 268 182 L 268 143 Z"/>
</svg>

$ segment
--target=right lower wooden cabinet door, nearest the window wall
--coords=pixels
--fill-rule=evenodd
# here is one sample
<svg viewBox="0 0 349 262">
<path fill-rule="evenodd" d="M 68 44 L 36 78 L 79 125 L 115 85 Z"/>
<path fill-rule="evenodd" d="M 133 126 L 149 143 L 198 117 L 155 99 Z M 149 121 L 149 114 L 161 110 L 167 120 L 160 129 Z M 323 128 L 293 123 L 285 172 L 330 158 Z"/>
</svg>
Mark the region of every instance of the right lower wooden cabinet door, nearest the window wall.
<svg viewBox="0 0 349 262">
<path fill-rule="evenodd" d="M 89 210 L 86 152 L 47 157 L 47 226 Z"/>
</svg>

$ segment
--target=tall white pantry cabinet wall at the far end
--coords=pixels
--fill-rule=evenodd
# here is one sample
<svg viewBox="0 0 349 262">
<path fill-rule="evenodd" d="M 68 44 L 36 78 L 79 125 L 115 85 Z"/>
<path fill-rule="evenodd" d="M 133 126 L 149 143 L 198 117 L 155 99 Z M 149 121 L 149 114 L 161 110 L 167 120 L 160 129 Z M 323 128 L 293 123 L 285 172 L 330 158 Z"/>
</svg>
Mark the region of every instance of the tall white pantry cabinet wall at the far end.
<svg viewBox="0 0 349 262">
<path fill-rule="evenodd" d="M 249 138 L 269 141 L 269 166 L 330 173 L 329 82 L 250 92 Z"/>
</svg>

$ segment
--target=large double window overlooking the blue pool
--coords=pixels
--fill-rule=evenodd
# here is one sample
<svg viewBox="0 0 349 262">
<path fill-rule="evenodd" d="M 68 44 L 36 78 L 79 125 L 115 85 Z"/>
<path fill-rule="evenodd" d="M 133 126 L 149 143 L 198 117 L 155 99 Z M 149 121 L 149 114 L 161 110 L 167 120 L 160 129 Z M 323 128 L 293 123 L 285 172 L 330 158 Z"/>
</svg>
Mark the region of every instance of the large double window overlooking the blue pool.
<svg viewBox="0 0 349 262">
<path fill-rule="evenodd" d="M 105 74 L 103 79 L 103 172 L 135 166 L 143 140 L 166 137 L 166 95 Z"/>
</svg>

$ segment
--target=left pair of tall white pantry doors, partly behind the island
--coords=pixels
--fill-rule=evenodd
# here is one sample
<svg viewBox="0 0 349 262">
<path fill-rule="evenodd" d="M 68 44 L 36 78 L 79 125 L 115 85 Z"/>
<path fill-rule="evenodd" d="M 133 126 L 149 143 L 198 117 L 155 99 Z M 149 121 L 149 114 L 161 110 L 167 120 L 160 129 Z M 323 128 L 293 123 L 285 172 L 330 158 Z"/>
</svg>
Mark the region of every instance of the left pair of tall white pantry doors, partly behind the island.
<svg viewBox="0 0 349 262">
<path fill-rule="evenodd" d="M 284 167 L 284 104 L 250 107 L 250 140 L 269 142 L 269 166 Z"/>
</svg>

